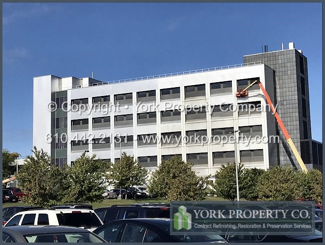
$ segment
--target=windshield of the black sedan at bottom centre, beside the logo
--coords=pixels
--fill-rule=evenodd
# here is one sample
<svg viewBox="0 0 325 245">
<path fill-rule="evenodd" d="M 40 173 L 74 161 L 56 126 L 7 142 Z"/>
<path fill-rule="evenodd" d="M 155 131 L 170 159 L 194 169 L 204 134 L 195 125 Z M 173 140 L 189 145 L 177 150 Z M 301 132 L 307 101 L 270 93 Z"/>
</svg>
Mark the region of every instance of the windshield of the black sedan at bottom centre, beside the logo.
<svg viewBox="0 0 325 245">
<path fill-rule="evenodd" d="M 169 234 L 169 225 L 162 226 L 163 230 Z M 197 235 L 188 235 L 187 232 L 198 232 Z M 173 238 L 178 240 L 181 243 L 193 243 L 193 242 L 224 242 L 226 241 L 216 232 L 213 232 L 208 229 L 190 229 L 187 232 L 184 232 L 183 235 L 172 235 Z"/>
</svg>

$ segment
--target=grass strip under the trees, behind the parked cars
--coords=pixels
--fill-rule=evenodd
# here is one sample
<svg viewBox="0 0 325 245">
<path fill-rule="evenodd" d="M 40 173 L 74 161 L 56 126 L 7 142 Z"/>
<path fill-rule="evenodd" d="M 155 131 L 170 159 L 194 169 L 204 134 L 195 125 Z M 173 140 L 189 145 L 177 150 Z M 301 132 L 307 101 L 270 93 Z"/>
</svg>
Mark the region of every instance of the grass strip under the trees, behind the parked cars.
<svg viewBox="0 0 325 245">
<path fill-rule="evenodd" d="M 224 199 L 219 198 L 219 197 L 213 197 L 213 196 L 207 196 L 205 201 L 223 201 Z M 162 198 L 143 198 L 143 199 L 104 199 L 100 203 L 88 203 L 93 205 L 94 209 L 97 208 L 102 208 L 102 207 L 110 207 L 112 205 L 130 205 L 130 204 L 135 204 L 135 203 L 166 203 L 168 204 L 169 201 L 164 200 Z M 2 204 L 2 208 L 6 207 L 11 207 L 11 206 L 30 206 L 31 204 L 21 202 L 19 201 L 18 203 L 4 203 Z"/>
</svg>

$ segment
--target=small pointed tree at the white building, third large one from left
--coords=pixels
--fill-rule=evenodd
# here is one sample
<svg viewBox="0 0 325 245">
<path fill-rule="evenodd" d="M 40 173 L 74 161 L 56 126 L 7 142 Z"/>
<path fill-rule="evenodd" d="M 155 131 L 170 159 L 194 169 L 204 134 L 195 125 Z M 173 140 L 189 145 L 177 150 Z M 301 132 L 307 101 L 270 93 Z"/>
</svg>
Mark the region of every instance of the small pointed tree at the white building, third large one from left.
<svg viewBox="0 0 325 245">
<path fill-rule="evenodd" d="M 145 182 L 148 171 L 143 168 L 133 156 L 123 153 L 121 159 L 112 164 L 109 179 L 115 187 L 130 187 Z"/>
</svg>

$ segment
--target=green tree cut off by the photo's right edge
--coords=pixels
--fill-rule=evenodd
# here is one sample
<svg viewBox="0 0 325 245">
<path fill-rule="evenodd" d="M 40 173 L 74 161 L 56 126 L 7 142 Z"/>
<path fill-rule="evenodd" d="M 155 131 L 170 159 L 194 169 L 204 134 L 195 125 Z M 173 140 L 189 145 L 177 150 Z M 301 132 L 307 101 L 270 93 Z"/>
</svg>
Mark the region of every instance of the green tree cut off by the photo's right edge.
<svg viewBox="0 0 325 245">
<path fill-rule="evenodd" d="M 323 175 L 317 169 L 308 170 L 307 173 L 299 172 L 298 188 L 300 200 L 313 200 L 321 203 L 323 200 Z"/>
</svg>

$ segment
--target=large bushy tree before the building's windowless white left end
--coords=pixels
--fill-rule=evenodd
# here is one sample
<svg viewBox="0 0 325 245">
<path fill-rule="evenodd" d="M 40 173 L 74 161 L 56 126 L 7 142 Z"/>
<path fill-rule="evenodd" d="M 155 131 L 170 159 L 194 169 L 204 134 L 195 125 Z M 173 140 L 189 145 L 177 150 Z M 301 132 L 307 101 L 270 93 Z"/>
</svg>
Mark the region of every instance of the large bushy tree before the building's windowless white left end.
<svg viewBox="0 0 325 245">
<path fill-rule="evenodd" d="M 33 156 L 25 159 L 25 164 L 16 174 L 23 192 L 23 200 L 36 206 L 50 207 L 60 203 L 65 195 L 65 168 L 51 164 L 51 157 L 43 149 L 33 148 Z"/>
</svg>

